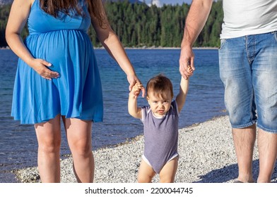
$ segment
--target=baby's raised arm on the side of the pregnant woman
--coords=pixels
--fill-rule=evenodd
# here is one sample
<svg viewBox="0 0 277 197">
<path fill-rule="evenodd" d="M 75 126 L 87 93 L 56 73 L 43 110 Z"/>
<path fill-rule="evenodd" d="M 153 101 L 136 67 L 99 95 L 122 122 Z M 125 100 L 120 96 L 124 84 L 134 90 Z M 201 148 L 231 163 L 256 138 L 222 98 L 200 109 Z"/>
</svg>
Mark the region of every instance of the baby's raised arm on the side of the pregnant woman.
<svg viewBox="0 0 277 197">
<path fill-rule="evenodd" d="M 141 92 L 141 89 L 144 89 L 143 85 L 136 83 L 134 87 L 132 87 L 129 93 L 129 101 L 128 101 L 129 114 L 139 119 L 142 118 L 142 115 L 141 115 L 141 108 L 138 108 L 138 105 L 137 105 L 137 97 Z"/>
</svg>

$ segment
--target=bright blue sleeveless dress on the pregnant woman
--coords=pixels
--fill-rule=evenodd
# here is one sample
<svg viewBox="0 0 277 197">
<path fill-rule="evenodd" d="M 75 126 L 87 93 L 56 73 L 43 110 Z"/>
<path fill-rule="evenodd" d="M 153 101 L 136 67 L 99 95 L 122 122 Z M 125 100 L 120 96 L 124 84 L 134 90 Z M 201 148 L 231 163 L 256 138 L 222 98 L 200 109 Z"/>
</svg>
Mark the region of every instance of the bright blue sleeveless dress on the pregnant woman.
<svg viewBox="0 0 277 197">
<path fill-rule="evenodd" d="M 54 18 L 42 11 L 40 1 L 33 3 L 25 46 L 33 57 L 52 63 L 49 69 L 60 77 L 45 80 L 18 59 L 11 115 L 21 124 L 46 122 L 58 114 L 102 121 L 100 73 L 87 34 L 90 15 L 86 4 L 80 4 L 83 15 Z"/>
</svg>

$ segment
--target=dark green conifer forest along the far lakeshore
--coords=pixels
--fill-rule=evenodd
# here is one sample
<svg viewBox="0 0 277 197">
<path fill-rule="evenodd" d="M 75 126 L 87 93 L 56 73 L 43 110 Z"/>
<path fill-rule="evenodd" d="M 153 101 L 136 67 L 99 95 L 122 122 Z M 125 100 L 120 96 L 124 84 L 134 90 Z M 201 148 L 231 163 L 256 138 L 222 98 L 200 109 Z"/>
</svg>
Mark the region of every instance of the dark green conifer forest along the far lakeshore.
<svg viewBox="0 0 277 197">
<path fill-rule="evenodd" d="M 129 47 L 179 47 L 189 6 L 188 4 L 164 5 L 158 8 L 149 7 L 146 4 L 131 4 L 129 1 L 105 3 L 112 29 L 117 33 L 122 44 Z M 10 8 L 10 5 L 0 7 L 0 47 L 6 46 L 4 32 Z M 213 3 L 204 30 L 194 46 L 218 47 L 222 21 L 222 1 L 217 1 Z M 93 27 L 88 34 L 94 46 L 101 46 L 95 37 Z M 22 37 L 25 38 L 27 35 L 28 30 L 24 28 Z"/>
</svg>

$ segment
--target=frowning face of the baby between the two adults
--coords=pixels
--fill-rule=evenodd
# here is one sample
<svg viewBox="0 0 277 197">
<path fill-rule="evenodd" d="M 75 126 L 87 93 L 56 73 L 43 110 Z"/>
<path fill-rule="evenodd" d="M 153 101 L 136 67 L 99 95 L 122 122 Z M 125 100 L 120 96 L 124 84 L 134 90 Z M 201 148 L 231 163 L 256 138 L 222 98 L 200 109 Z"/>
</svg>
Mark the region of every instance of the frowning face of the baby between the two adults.
<svg viewBox="0 0 277 197">
<path fill-rule="evenodd" d="M 166 94 L 165 96 L 154 95 L 152 92 L 148 93 L 147 100 L 151 110 L 157 117 L 162 117 L 170 110 L 172 96 Z"/>
</svg>

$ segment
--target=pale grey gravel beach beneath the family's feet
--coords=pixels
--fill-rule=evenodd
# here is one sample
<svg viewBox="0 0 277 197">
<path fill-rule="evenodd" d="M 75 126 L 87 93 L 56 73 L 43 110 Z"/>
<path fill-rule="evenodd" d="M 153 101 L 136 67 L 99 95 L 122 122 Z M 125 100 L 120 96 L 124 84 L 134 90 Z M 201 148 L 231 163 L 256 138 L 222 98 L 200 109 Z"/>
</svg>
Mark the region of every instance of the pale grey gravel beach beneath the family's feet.
<svg viewBox="0 0 277 197">
<path fill-rule="evenodd" d="M 177 183 L 226 183 L 237 178 L 237 160 L 232 144 L 228 117 L 217 117 L 207 122 L 179 129 L 179 166 Z M 135 183 L 141 155 L 143 136 L 112 148 L 93 151 L 95 182 Z M 257 144 L 254 148 L 253 173 L 257 179 L 259 159 Z M 40 182 L 37 167 L 13 171 L 19 182 Z M 153 182 L 158 182 L 155 176 Z M 61 160 L 61 182 L 76 182 L 72 158 Z M 277 182 L 277 164 L 271 182 Z"/>
</svg>

